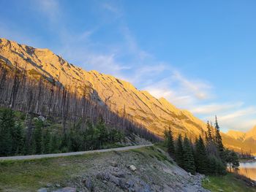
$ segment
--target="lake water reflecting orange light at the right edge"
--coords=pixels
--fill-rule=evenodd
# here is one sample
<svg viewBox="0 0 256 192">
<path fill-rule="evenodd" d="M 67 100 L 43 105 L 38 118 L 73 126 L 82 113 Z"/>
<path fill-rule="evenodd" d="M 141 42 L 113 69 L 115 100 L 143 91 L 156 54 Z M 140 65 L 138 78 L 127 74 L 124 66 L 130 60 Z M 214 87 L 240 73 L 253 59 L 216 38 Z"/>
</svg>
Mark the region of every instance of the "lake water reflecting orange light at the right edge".
<svg viewBox="0 0 256 192">
<path fill-rule="evenodd" d="M 256 181 L 256 161 L 240 163 L 238 173 Z"/>
</svg>

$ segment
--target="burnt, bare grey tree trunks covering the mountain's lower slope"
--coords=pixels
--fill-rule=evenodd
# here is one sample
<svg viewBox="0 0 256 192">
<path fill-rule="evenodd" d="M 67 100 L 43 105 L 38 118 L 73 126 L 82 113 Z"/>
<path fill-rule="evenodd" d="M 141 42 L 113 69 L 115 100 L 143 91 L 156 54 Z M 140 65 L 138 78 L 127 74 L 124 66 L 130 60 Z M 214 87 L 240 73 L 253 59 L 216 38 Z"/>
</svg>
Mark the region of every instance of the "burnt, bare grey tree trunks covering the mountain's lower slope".
<svg viewBox="0 0 256 192">
<path fill-rule="evenodd" d="M 97 125 L 101 119 L 105 126 L 116 128 L 124 136 L 137 134 L 151 142 L 159 141 L 159 137 L 135 123 L 125 110 L 113 112 L 106 102 L 100 101 L 97 91 L 86 85 L 62 85 L 58 79 L 34 69 L 26 70 L 26 66 L 20 68 L 17 63 L 0 60 L 0 107 L 25 113 L 26 143 L 33 140 L 37 126 L 33 126 L 36 123 L 31 119 L 38 116 L 61 123 L 63 136 L 71 135 L 74 125 L 87 130 L 89 122 Z M 12 128 L 18 128 L 16 123 Z"/>
</svg>

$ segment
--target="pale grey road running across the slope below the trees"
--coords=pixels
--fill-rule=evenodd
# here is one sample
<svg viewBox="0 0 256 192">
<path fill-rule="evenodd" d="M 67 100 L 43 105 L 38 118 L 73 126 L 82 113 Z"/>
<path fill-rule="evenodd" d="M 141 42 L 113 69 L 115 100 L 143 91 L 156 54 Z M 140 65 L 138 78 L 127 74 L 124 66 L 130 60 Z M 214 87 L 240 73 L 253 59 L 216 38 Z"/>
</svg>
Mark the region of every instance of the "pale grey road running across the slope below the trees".
<svg viewBox="0 0 256 192">
<path fill-rule="evenodd" d="M 148 146 L 152 146 L 152 145 L 135 145 L 135 146 L 118 147 L 118 148 L 111 148 L 111 149 L 105 149 L 105 150 L 87 150 L 87 151 L 78 151 L 78 152 L 71 152 L 71 153 L 54 153 L 54 154 L 45 154 L 45 155 L 9 156 L 9 157 L 0 157 L 0 161 L 26 160 L 26 159 L 35 159 L 35 158 L 52 158 L 52 157 L 64 157 L 64 156 L 83 155 L 83 154 L 91 154 L 91 153 L 104 153 L 104 152 L 109 152 L 109 151 L 132 150 L 132 149 L 138 149 L 138 148 L 141 148 L 141 147 L 148 147 Z"/>
</svg>

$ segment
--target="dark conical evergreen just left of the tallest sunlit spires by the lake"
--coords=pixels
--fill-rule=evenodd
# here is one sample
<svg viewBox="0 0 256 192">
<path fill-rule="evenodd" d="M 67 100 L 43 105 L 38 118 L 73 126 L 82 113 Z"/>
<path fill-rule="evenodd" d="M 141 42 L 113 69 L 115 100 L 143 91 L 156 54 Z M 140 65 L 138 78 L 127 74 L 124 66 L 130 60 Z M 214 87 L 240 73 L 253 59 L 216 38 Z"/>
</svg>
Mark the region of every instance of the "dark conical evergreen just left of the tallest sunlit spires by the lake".
<svg viewBox="0 0 256 192">
<path fill-rule="evenodd" d="M 195 142 L 195 166 L 197 172 L 208 174 L 208 157 L 202 137 L 199 137 Z"/>
</svg>

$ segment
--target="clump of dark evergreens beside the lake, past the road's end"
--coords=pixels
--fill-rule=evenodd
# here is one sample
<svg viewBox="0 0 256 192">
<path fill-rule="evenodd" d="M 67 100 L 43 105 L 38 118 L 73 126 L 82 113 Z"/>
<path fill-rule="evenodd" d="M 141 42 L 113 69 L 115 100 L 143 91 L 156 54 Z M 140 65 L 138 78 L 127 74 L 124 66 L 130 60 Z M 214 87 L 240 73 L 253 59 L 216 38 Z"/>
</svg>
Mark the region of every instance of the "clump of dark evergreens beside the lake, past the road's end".
<svg viewBox="0 0 256 192">
<path fill-rule="evenodd" d="M 226 173 L 226 169 L 238 169 L 238 155 L 233 150 L 228 150 L 222 144 L 222 137 L 219 131 L 219 123 L 215 121 L 215 126 L 207 123 L 207 131 L 203 136 L 199 136 L 192 142 L 185 135 L 178 135 L 173 139 L 171 129 L 165 130 L 165 145 L 171 157 L 174 158 L 178 166 L 191 174 L 221 175 Z"/>
</svg>

